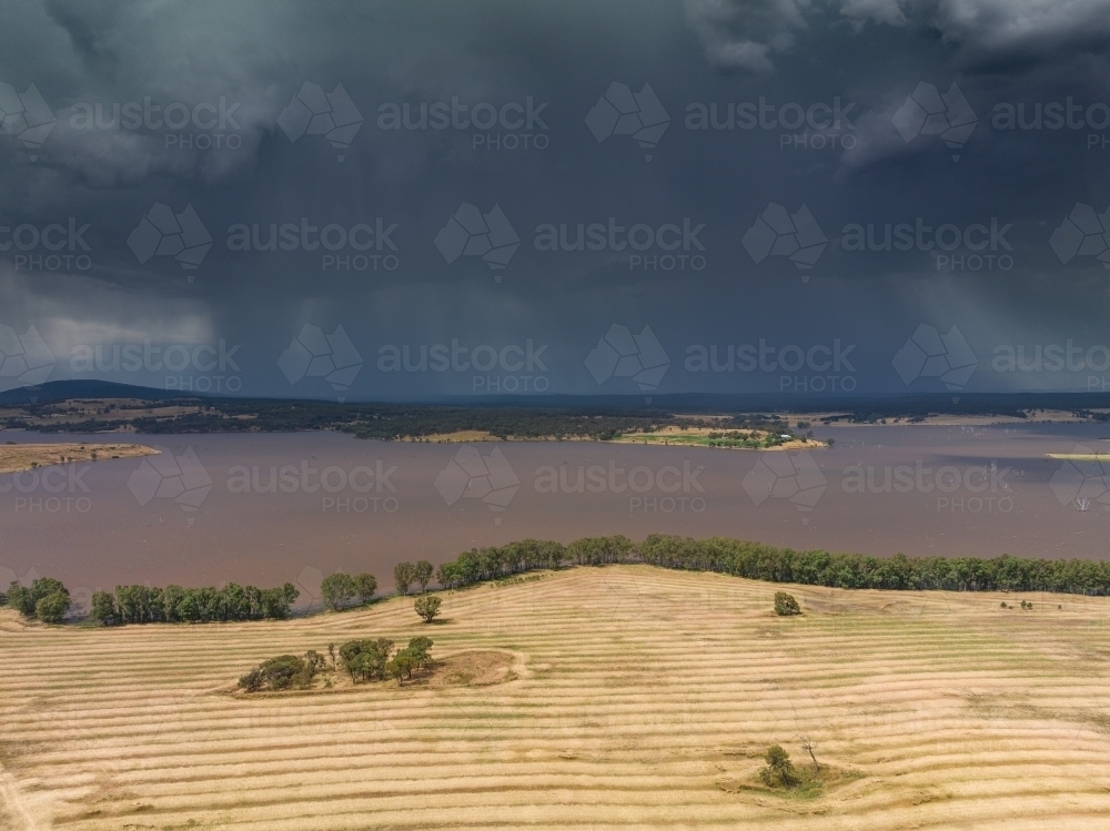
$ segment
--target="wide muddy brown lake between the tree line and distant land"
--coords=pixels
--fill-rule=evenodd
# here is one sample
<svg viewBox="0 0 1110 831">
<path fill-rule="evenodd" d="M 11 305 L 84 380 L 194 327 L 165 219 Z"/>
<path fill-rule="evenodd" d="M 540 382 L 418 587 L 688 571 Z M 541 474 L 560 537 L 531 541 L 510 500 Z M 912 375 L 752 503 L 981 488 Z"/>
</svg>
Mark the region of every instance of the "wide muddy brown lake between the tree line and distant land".
<svg viewBox="0 0 1110 831">
<path fill-rule="evenodd" d="M 400 560 L 608 534 L 722 535 L 878 556 L 1108 550 L 1110 513 L 1098 498 L 1110 476 L 1091 465 L 1060 474 L 1066 463 L 1047 454 L 1077 445 L 1110 453 L 1100 438 L 1110 427 L 819 435 L 835 447 L 807 458 L 592 442 L 465 449 L 335 433 L 138 436 L 170 453 L 0 477 L 0 581 L 53 576 L 82 599 L 121 582 L 294 580 L 311 599 L 320 576 L 340 569 L 371 571 L 391 589 Z M 0 440 L 74 437 L 11 432 Z"/>
</svg>

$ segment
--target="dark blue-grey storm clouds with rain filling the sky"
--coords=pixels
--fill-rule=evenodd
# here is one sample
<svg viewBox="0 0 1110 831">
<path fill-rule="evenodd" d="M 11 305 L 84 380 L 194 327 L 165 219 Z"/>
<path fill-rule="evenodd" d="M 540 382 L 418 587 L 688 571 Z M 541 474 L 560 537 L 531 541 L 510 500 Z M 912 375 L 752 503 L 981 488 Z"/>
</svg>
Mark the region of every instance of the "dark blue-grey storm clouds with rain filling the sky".
<svg viewBox="0 0 1110 831">
<path fill-rule="evenodd" d="M 0 245 L 24 244 L 0 251 L 0 323 L 36 327 L 52 378 L 650 394 L 587 367 L 614 325 L 657 338 L 659 393 L 800 394 L 816 378 L 825 392 L 845 378 L 847 392 L 944 392 L 891 364 L 921 325 L 957 326 L 978 361 L 968 389 L 1086 388 L 1103 374 L 992 363 L 1069 340 L 1087 362 L 1110 343 L 1090 216 L 1064 223 L 1077 203 L 1110 206 L 1104 0 L 8 8 L 0 82 L 33 83 L 54 122 L 30 146 L 0 136 Z M 296 126 L 303 89 L 310 103 L 333 94 L 333 126 L 347 126 L 334 143 Z M 915 113 L 937 101 L 926 129 Z M 635 138 L 633 114 L 616 126 L 628 107 Z M 203 234 L 153 253 L 157 203 L 171 223 L 191 206 Z M 481 240 L 463 253 L 456 215 L 497 225 L 500 253 L 484 259 Z M 803 235 L 780 229 L 790 239 L 771 250 L 760 216 Z M 353 382 L 279 365 L 312 327 L 335 355 L 342 327 L 362 361 Z M 74 359 L 100 346 L 111 366 L 129 345 L 153 357 L 134 371 Z M 195 359 L 167 371 L 171 346 L 174 366 Z M 411 368 L 393 371 L 405 347 Z M 488 368 L 474 369 L 477 347 Z M 729 347 L 754 349 L 755 368 L 729 369 Z M 702 372 L 710 349 L 719 371 Z M 799 352 L 797 369 L 779 366 Z M 211 354 L 230 356 L 204 368 Z"/>
</svg>

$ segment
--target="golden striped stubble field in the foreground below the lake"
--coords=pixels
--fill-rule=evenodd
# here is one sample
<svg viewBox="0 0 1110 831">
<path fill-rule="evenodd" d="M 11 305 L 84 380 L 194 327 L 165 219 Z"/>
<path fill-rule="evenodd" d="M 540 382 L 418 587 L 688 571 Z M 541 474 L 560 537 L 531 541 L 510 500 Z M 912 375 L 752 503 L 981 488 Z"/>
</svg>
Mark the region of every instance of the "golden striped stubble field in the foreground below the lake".
<svg viewBox="0 0 1110 831">
<path fill-rule="evenodd" d="M 119 629 L 0 612 L 0 828 L 1110 828 L 1110 601 L 573 569 L 289 622 Z M 1000 600 L 1033 602 L 1030 611 Z M 1062 605 L 1062 609 L 1057 606 Z M 416 634 L 494 686 L 244 699 L 259 660 Z M 747 790 L 798 737 L 850 771 Z"/>
</svg>

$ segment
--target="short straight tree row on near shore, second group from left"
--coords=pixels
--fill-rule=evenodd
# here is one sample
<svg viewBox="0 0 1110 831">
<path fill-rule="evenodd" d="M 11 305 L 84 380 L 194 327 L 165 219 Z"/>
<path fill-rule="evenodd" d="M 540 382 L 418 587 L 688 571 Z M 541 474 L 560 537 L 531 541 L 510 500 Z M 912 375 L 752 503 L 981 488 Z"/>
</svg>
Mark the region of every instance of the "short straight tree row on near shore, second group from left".
<svg viewBox="0 0 1110 831">
<path fill-rule="evenodd" d="M 90 617 L 104 626 L 123 624 L 203 624 L 225 620 L 285 620 L 301 596 L 286 582 L 260 589 L 230 582 L 222 589 L 167 586 L 117 586 L 94 591 Z"/>
</svg>

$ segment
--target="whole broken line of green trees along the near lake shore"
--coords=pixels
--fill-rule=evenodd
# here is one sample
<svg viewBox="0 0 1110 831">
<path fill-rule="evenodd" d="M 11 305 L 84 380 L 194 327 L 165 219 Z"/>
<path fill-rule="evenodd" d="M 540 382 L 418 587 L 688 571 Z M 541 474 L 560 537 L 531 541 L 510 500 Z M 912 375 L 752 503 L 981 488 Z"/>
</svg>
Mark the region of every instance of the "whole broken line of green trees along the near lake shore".
<svg viewBox="0 0 1110 831">
<path fill-rule="evenodd" d="M 795 582 L 842 589 L 1054 591 L 1071 595 L 1110 594 L 1110 561 L 1084 559 L 1025 559 L 1001 555 L 979 557 L 871 557 L 799 551 L 729 537 L 694 539 L 652 534 L 640 543 L 627 537 L 586 537 L 563 545 L 524 539 L 504 546 L 472 548 L 435 569 L 441 588 L 458 589 L 526 571 L 572 566 L 644 563 L 686 571 L 716 571 L 768 582 Z M 402 563 L 394 569 L 398 595 L 413 584 L 424 591 L 431 582 L 426 560 Z M 329 608 L 371 602 L 377 589 L 372 575 L 331 575 L 322 586 Z M 300 591 L 286 582 L 279 588 L 229 584 L 223 588 L 117 586 L 97 591 L 89 617 L 107 626 L 143 622 L 206 622 L 282 620 L 292 614 Z M 70 610 L 69 590 L 58 580 L 39 578 L 30 587 L 11 584 L 0 604 L 28 618 L 61 622 Z"/>
</svg>

